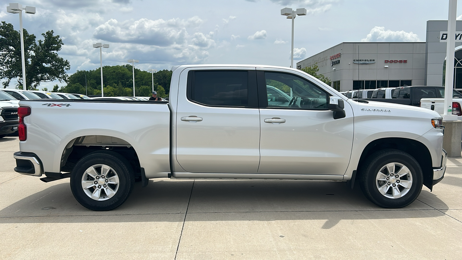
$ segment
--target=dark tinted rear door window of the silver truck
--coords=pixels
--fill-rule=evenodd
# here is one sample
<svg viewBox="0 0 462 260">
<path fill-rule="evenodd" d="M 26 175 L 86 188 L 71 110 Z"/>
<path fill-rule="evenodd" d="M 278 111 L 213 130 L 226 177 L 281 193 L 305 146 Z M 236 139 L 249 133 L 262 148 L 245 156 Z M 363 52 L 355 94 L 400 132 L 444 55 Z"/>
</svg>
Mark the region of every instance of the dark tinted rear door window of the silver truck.
<svg viewBox="0 0 462 260">
<path fill-rule="evenodd" d="M 204 105 L 247 106 L 247 71 L 195 71 L 191 99 Z"/>
</svg>

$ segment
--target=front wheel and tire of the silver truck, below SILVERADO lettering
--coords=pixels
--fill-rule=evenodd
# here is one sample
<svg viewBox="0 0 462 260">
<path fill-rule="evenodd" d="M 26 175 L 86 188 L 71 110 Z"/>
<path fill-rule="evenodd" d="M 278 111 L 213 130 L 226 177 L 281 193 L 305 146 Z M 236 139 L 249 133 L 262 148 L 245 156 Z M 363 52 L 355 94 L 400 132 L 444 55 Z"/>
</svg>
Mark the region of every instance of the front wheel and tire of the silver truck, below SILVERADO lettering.
<svg viewBox="0 0 462 260">
<path fill-rule="evenodd" d="M 411 155 L 396 149 L 372 154 L 360 170 L 360 186 L 364 195 L 383 208 L 402 208 L 413 203 L 422 190 L 422 184 L 423 173 L 419 163 Z"/>
</svg>

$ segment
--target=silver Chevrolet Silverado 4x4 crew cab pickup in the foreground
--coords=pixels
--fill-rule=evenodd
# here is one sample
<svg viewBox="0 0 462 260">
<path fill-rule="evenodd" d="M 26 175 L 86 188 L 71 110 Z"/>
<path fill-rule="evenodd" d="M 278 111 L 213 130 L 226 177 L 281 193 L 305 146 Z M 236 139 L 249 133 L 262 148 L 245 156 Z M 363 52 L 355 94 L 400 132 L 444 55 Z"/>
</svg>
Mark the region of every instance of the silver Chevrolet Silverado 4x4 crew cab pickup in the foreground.
<svg viewBox="0 0 462 260">
<path fill-rule="evenodd" d="M 14 170 L 70 177 L 91 210 L 120 206 L 135 179 L 358 180 L 371 202 L 399 208 L 444 177 L 434 111 L 347 99 L 292 68 L 172 70 L 169 102 L 20 101 Z"/>
</svg>

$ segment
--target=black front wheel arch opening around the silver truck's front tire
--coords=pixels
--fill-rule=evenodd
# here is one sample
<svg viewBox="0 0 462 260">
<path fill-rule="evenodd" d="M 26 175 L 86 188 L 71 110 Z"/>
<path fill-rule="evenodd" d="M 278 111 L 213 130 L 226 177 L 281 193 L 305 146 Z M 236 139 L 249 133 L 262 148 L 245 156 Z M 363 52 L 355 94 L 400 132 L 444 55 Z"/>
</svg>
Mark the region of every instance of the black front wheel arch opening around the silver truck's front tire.
<svg viewBox="0 0 462 260">
<path fill-rule="evenodd" d="M 386 137 L 376 139 L 366 145 L 361 156 L 359 157 L 358 173 L 360 167 L 364 166 L 365 160 L 373 153 L 383 149 L 397 149 L 408 153 L 413 156 L 422 168 L 424 177 L 423 184 L 432 190 L 433 185 L 433 168 L 432 168 L 432 155 L 430 151 L 422 142 L 402 137 Z M 356 176 L 357 178 L 359 176 Z"/>
</svg>

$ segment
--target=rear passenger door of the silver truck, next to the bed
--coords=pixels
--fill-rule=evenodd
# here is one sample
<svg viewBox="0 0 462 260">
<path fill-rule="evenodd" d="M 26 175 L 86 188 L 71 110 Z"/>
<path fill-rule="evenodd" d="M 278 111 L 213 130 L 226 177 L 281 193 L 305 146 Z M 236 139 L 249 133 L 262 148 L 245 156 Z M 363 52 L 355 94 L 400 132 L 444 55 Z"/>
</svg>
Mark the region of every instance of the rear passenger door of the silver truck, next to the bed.
<svg viewBox="0 0 462 260">
<path fill-rule="evenodd" d="M 255 68 L 184 70 L 176 160 L 190 173 L 257 173 L 260 114 Z M 181 82 L 181 81 L 180 81 Z M 182 88 L 186 89 L 182 89 Z"/>
</svg>

